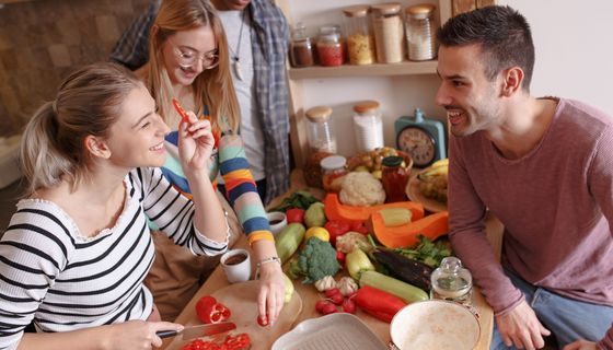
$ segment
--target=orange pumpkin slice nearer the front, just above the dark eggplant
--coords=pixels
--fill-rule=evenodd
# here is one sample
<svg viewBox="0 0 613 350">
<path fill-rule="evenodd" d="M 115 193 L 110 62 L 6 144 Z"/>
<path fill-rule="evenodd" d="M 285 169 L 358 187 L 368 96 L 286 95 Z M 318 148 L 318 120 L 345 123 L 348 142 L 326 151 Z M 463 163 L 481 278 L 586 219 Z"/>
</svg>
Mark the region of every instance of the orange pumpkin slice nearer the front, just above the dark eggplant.
<svg viewBox="0 0 613 350">
<path fill-rule="evenodd" d="M 374 212 L 370 217 L 369 225 L 382 245 L 389 248 L 412 247 L 419 242 L 417 238 L 419 234 L 431 241 L 447 234 L 449 232 L 449 212 L 441 211 L 393 228 L 385 226 L 381 213 Z"/>
</svg>

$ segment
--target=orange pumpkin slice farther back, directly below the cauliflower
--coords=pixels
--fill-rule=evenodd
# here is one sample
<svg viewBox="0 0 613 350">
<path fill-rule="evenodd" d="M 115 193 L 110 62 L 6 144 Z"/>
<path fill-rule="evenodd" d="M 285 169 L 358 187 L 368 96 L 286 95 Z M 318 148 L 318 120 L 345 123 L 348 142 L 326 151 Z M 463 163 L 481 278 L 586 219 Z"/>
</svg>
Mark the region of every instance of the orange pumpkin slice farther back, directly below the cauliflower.
<svg viewBox="0 0 613 350">
<path fill-rule="evenodd" d="M 336 194 L 328 194 L 324 199 L 327 220 L 367 221 L 373 212 L 389 208 L 404 208 L 410 211 L 412 220 L 424 218 L 424 206 L 414 201 L 400 201 L 372 207 L 354 207 L 342 205 Z"/>
</svg>

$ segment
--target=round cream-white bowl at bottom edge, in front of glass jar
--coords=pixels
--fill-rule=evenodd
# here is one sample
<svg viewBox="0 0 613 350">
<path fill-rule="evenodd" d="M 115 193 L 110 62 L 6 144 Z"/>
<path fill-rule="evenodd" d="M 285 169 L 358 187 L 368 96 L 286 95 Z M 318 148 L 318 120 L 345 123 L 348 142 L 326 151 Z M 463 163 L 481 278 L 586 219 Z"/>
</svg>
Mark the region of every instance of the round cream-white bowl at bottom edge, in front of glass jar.
<svg viewBox="0 0 613 350">
<path fill-rule="evenodd" d="M 390 332 L 400 350 L 471 350 L 481 326 L 466 307 L 430 300 L 403 307 L 392 319 Z"/>
</svg>

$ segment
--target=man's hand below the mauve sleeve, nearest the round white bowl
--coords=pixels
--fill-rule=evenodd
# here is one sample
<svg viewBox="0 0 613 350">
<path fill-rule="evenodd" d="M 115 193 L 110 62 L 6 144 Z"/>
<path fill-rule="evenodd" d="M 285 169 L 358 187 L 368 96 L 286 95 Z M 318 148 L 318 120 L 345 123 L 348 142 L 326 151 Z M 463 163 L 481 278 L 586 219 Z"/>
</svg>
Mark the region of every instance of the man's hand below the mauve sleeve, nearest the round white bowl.
<svg viewBox="0 0 613 350">
<path fill-rule="evenodd" d="M 541 349 L 545 346 L 543 336 L 551 335 L 551 331 L 541 324 L 525 301 L 510 312 L 497 315 L 496 326 L 505 345 L 514 346 L 518 349 Z"/>
</svg>

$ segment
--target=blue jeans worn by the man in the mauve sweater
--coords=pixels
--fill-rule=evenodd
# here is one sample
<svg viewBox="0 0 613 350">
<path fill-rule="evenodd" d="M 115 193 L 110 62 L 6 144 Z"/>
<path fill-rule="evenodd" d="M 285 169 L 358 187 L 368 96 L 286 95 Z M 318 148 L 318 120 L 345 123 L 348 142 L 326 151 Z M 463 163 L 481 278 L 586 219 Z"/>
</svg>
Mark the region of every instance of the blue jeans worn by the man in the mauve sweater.
<svg viewBox="0 0 613 350">
<path fill-rule="evenodd" d="M 528 283 L 506 271 L 513 284 L 523 292 L 525 301 L 555 336 L 559 348 L 578 340 L 598 341 L 604 337 L 613 320 L 613 307 L 572 300 Z M 516 349 L 506 347 L 496 324 L 490 350 Z"/>
</svg>

